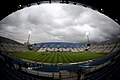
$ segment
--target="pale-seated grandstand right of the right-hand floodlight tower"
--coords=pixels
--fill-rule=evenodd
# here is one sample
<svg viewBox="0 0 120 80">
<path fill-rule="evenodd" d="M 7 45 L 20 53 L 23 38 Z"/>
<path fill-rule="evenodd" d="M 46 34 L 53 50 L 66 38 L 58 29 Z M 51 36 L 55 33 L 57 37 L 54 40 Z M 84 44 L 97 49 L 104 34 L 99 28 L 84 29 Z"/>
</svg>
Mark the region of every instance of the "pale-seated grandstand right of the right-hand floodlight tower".
<svg viewBox="0 0 120 80">
<path fill-rule="evenodd" d="M 120 39 L 107 40 L 90 46 L 89 52 L 114 53 L 120 49 Z"/>
</svg>

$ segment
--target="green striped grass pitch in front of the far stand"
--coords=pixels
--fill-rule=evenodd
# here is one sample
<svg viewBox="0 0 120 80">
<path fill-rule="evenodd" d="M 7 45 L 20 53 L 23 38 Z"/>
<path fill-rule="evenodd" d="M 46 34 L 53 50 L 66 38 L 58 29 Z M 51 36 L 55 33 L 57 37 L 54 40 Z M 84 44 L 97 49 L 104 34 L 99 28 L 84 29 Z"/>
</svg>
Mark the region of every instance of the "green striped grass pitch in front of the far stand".
<svg viewBox="0 0 120 80">
<path fill-rule="evenodd" d="M 13 57 L 44 63 L 75 63 L 99 59 L 108 54 L 97 54 L 88 52 L 22 52 L 11 53 Z"/>
</svg>

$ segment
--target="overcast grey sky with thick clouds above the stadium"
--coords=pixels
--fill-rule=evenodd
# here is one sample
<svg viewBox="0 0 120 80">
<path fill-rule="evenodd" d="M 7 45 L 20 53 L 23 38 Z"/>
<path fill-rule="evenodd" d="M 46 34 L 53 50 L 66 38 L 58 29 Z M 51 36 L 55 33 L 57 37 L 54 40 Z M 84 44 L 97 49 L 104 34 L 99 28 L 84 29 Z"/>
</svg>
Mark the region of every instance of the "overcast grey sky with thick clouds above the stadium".
<svg viewBox="0 0 120 80">
<path fill-rule="evenodd" d="M 81 5 L 41 4 L 14 12 L 0 21 L 0 36 L 18 42 L 84 42 L 120 37 L 120 25 Z"/>
</svg>

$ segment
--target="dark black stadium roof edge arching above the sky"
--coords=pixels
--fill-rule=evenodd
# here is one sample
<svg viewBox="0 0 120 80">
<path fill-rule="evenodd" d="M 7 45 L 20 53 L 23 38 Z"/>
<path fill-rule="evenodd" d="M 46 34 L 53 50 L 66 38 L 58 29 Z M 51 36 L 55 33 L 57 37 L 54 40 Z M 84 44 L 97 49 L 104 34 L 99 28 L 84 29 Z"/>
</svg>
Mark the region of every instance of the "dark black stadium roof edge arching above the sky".
<svg viewBox="0 0 120 80">
<path fill-rule="evenodd" d="M 73 1 L 75 3 L 83 3 L 86 5 L 90 5 L 99 11 L 103 12 L 104 14 L 108 15 L 112 19 L 116 20 L 120 24 L 120 12 L 118 11 L 119 8 L 119 0 L 1 0 L 0 1 L 0 20 L 6 17 L 7 15 L 11 14 L 12 12 L 16 11 L 19 6 L 28 5 L 34 2 L 40 1 L 61 1 L 64 3 L 69 3 L 69 1 Z M 29 5 L 28 5 L 29 6 Z"/>
</svg>

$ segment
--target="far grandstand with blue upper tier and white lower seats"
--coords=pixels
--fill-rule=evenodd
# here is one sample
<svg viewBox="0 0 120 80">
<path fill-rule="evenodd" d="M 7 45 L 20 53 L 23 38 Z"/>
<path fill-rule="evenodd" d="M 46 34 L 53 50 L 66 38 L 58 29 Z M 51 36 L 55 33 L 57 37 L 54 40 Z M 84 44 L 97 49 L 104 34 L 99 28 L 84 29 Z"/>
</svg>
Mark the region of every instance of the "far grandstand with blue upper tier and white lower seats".
<svg viewBox="0 0 120 80">
<path fill-rule="evenodd" d="M 80 43 L 67 42 L 46 42 L 40 43 L 38 52 L 80 52 L 84 51 L 85 46 Z"/>
</svg>

